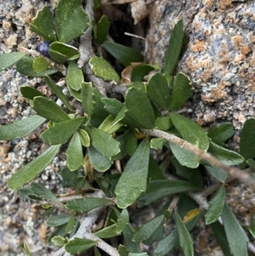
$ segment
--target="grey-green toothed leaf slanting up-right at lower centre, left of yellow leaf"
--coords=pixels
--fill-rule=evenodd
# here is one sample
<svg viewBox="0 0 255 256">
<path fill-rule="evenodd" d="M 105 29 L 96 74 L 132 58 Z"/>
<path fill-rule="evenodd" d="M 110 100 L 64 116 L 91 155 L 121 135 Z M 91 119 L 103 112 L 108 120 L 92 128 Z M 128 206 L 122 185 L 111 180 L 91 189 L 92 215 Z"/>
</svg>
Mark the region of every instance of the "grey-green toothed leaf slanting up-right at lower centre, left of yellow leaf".
<svg viewBox="0 0 255 256">
<path fill-rule="evenodd" d="M 134 242 L 143 242 L 154 234 L 156 229 L 164 223 L 164 215 L 160 215 L 142 225 L 133 235 Z"/>
</svg>

